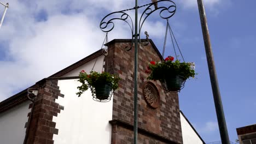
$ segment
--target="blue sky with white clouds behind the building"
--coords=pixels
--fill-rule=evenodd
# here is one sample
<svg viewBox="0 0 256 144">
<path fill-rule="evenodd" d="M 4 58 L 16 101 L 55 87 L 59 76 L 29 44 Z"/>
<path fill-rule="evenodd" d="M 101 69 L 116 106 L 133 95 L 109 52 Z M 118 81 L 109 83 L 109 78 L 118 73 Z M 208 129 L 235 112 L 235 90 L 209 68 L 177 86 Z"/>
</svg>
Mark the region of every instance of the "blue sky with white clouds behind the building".
<svg viewBox="0 0 256 144">
<path fill-rule="evenodd" d="M 99 27 L 101 19 L 113 11 L 135 6 L 133 0 L 8 2 L 0 29 L 0 101 L 101 49 L 105 37 Z M 198 73 L 196 79 L 187 80 L 179 93 L 180 109 L 205 142 L 219 141 L 197 3 L 173 2 L 177 11 L 169 19 L 170 25 L 185 61 L 195 62 Z M 256 119 L 256 2 L 203 2 L 226 124 L 230 140 L 235 141 L 236 128 L 255 124 Z M 148 3 L 150 0 L 138 1 L 139 5 Z M 1 15 L 3 10 L 0 7 Z M 142 11 L 139 9 L 139 14 Z M 134 11 L 127 13 L 134 19 Z M 166 20 L 156 11 L 146 20 L 141 37 L 145 38 L 143 33 L 147 31 L 162 52 L 165 27 Z M 116 22 L 108 39 L 131 39 L 129 26 Z M 165 56 L 174 56 L 170 37 L 166 43 Z"/>
</svg>

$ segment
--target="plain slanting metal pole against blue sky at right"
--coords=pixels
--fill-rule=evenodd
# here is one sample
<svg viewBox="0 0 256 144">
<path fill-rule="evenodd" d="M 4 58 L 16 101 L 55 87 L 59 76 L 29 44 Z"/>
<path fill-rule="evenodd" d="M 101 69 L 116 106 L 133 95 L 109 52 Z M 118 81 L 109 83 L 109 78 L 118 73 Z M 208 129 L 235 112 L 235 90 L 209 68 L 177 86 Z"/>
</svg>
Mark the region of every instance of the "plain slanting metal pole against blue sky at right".
<svg viewBox="0 0 256 144">
<path fill-rule="evenodd" d="M 205 8 L 203 6 L 202 0 L 197 0 L 197 4 L 198 4 L 199 15 L 201 20 L 203 41 L 205 43 L 205 52 L 207 57 L 208 69 L 209 69 L 210 79 L 212 84 L 214 104 L 215 104 L 215 109 L 216 109 L 217 119 L 219 124 L 220 138 L 222 139 L 223 144 L 224 143 L 229 144 L 230 143 L 229 134 L 226 128 L 226 121 L 225 121 L 225 116 L 224 116 L 224 111 L 222 106 L 222 99 L 220 97 L 220 92 L 219 92 L 219 84 L 218 84 L 215 64 L 214 64 L 213 55 L 212 55 L 212 46 L 211 46 L 210 34 L 207 26 Z"/>
</svg>

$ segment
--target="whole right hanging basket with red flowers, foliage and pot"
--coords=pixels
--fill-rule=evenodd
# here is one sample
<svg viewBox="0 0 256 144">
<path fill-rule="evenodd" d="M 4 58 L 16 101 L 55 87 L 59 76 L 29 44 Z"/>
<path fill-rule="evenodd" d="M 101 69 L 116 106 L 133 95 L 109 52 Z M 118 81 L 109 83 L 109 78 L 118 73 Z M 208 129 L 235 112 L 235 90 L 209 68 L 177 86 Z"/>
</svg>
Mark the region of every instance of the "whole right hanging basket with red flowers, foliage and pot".
<svg viewBox="0 0 256 144">
<path fill-rule="evenodd" d="M 165 61 L 150 62 L 146 73 L 149 80 L 159 80 L 168 92 L 179 92 L 189 77 L 195 77 L 195 64 L 180 62 L 178 59 L 168 56 Z"/>
</svg>

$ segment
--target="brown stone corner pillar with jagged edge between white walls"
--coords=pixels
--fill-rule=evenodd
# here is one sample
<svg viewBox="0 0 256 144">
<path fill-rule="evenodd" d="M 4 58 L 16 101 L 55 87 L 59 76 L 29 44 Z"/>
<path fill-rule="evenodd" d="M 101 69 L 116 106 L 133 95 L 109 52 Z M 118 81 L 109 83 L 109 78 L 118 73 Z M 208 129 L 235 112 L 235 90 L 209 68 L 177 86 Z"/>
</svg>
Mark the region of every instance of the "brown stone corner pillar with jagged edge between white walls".
<svg viewBox="0 0 256 144">
<path fill-rule="evenodd" d="M 27 144 L 53 144 L 53 135 L 58 134 L 53 117 L 57 116 L 63 106 L 55 103 L 58 97 L 64 97 L 57 86 L 57 80 L 42 80 L 38 82 L 39 89 L 37 99 L 34 101 L 33 112 L 28 113 L 31 117 L 27 125 Z"/>
</svg>

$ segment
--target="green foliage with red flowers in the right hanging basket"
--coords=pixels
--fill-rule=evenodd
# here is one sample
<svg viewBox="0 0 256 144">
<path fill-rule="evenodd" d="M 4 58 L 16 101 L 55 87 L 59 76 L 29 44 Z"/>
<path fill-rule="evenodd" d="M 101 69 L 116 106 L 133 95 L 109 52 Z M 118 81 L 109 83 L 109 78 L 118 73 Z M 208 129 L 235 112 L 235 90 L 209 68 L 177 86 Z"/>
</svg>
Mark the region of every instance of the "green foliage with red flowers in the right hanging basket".
<svg viewBox="0 0 256 144">
<path fill-rule="evenodd" d="M 164 81 L 165 79 L 180 75 L 183 77 L 183 80 L 187 80 L 189 77 L 195 77 L 194 67 L 194 63 L 180 62 L 178 59 L 176 61 L 166 59 L 166 61 L 159 63 L 150 62 L 148 66 L 149 76 L 147 79 Z"/>
</svg>

